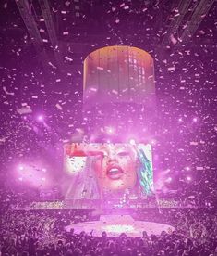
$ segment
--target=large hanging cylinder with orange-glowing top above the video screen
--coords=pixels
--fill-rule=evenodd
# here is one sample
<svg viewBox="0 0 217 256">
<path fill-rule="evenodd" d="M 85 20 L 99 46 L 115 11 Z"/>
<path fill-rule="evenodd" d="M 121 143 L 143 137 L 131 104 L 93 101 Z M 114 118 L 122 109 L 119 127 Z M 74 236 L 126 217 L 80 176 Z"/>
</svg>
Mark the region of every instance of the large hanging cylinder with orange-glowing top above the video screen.
<svg viewBox="0 0 217 256">
<path fill-rule="evenodd" d="M 84 60 L 84 109 L 106 103 L 136 103 L 154 107 L 153 58 L 124 45 L 107 46 Z"/>
</svg>

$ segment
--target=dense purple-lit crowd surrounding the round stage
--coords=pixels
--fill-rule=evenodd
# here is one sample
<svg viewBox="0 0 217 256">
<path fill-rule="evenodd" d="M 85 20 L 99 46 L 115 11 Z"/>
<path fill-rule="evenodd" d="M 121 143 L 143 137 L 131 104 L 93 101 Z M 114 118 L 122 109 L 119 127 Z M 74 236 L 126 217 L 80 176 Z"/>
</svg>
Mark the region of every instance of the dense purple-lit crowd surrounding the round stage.
<svg viewBox="0 0 217 256">
<path fill-rule="evenodd" d="M 217 255 L 217 216 L 205 209 L 147 209 L 134 211 L 133 217 L 168 223 L 175 231 L 161 236 L 129 238 L 77 235 L 68 224 L 97 220 L 91 210 L 12 210 L 1 213 L 0 251 L 2 256 L 152 256 Z"/>
</svg>

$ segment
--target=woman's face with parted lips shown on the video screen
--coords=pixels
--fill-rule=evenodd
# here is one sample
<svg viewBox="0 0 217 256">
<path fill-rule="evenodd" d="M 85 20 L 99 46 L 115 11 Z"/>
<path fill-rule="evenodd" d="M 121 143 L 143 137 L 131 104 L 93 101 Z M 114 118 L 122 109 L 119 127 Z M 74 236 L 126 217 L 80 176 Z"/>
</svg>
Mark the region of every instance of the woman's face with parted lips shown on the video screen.
<svg viewBox="0 0 217 256">
<path fill-rule="evenodd" d="M 104 191 L 132 188 L 137 182 L 137 154 L 131 145 L 103 144 L 102 157 L 94 161 L 94 170 Z"/>
</svg>

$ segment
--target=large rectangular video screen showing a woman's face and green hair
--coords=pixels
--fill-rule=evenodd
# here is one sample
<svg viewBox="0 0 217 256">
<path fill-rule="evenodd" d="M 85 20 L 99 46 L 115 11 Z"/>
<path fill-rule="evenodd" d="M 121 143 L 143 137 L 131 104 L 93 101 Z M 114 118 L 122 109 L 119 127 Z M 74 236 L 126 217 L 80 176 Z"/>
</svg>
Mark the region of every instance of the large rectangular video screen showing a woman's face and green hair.
<svg viewBox="0 0 217 256">
<path fill-rule="evenodd" d="M 153 192 L 151 145 L 65 145 L 66 199 L 147 198 Z"/>
</svg>

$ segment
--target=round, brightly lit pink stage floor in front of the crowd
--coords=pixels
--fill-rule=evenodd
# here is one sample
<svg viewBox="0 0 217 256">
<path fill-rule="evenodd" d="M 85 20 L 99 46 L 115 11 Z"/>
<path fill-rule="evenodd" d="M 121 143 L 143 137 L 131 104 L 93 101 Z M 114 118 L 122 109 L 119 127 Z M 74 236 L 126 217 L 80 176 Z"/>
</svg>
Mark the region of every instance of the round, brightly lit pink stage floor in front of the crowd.
<svg viewBox="0 0 217 256">
<path fill-rule="evenodd" d="M 169 224 L 135 221 L 130 215 L 102 215 L 100 221 L 70 224 L 66 226 L 66 231 L 69 232 L 72 228 L 75 234 L 80 234 L 81 231 L 90 234 L 93 230 L 93 237 L 102 237 L 103 231 L 108 237 L 119 237 L 121 233 L 125 233 L 127 237 L 141 237 L 143 231 L 150 236 L 160 235 L 162 231 L 170 233 L 175 230 Z"/>
</svg>

